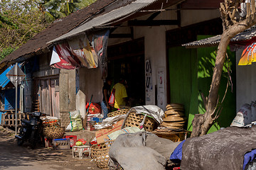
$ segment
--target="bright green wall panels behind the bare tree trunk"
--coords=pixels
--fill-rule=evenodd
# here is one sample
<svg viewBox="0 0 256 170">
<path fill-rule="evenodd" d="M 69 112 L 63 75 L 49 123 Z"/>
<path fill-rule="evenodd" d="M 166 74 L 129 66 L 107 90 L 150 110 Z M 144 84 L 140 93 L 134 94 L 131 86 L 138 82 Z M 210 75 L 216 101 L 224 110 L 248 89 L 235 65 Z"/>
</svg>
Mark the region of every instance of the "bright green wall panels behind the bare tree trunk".
<svg viewBox="0 0 256 170">
<path fill-rule="evenodd" d="M 198 36 L 198 39 L 208 36 Z M 185 47 L 169 48 L 169 76 L 171 103 L 183 103 L 185 114 L 188 118 L 188 130 L 192 130 L 192 120 L 195 114 L 204 113 L 201 92 L 208 96 L 210 81 L 213 75 L 215 64 L 215 52 L 217 47 L 204 47 L 198 49 L 186 49 Z M 228 127 L 235 117 L 235 53 L 228 49 L 230 59 L 230 74 L 233 81 L 233 93 L 231 87 L 228 87 L 225 101 L 223 102 L 223 111 L 209 132 L 219 130 L 220 127 Z M 225 64 L 228 66 L 228 64 Z M 223 69 L 223 75 L 220 82 L 220 101 L 225 94 L 227 85 L 227 69 Z"/>
</svg>

